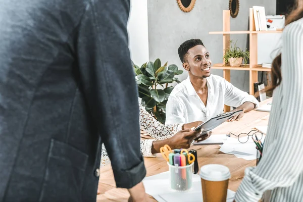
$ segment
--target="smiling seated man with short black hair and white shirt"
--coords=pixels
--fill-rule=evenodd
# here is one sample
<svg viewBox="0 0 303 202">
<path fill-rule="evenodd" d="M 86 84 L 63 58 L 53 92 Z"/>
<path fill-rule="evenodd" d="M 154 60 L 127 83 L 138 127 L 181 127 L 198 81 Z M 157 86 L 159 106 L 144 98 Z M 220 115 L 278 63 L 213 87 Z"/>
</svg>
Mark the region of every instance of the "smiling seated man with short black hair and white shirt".
<svg viewBox="0 0 303 202">
<path fill-rule="evenodd" d="M 224 78 L 211 75 L 210 54 L 200 39 L 185 41 L 178 48 L 188 78 L 175 86 L 166 105 L 166 123 L 207 121 L 223 113 L 224 105 L 243 112 L 231 119 L 239 120 L 245 112 L 258 107 L 258 100 Z"/>
</svg>

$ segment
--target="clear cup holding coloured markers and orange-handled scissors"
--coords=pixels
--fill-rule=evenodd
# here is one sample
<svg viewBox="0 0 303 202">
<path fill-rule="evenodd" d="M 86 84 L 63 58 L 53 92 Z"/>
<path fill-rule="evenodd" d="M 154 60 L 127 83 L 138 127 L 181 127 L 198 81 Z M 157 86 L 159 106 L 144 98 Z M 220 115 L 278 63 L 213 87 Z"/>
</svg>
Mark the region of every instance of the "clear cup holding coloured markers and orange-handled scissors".
<svg viewBox="0 0 303 202">
<path fill-rule="evenodd" d="M 192 186 L 193 164 L 187 166 L 173 166 L 168 163 L 170 188 L 176 191 L 186 191 Z"/>
</svg>

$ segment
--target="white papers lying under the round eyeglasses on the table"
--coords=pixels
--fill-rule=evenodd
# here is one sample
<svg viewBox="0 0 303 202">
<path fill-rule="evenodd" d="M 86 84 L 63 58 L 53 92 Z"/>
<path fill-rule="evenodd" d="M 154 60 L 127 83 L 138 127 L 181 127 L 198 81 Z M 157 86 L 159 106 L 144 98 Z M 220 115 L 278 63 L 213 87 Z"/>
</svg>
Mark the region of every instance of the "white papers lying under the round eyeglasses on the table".
<svg viewBox="0 0 303 202">
<path fill-rule="evenodd" d="M 261 136 L 258 137 L 261 138 Z M 264 138 L 265 136 L 263 135 L 263 139 Z M 246 140 L 247 138 L 242 137 L 242 139 Z M 237 158 L 242 158 L 245 160 L 257 159 L 256 144 L 254 141 L 252 141 L 251 136 L 249 136 L 246 143 L 239 142 L 238 138 L 230 138 L 224 142 L 219 150 L 225 154 L 235 155 Z"/>
</svg>

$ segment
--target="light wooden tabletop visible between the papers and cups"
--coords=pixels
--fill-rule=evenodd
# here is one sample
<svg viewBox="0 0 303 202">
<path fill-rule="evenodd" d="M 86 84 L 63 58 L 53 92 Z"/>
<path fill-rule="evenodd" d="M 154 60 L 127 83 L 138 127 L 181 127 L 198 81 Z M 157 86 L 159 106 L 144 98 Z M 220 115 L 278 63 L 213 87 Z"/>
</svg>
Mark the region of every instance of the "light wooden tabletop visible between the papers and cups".
<svg viewBox="0 0 303 202">
<path fill-rule="evenodd" d="M 266 105 L 272 100 L 267 99 L 260 104 Z M 255 126 L 265 126 L 268 124 L 269 113 L 258 112 L 252 110 L 245 113 L 241 120 L 234 122 L 225 122 L 213 130 L 216 134 L 239 134 L 241 132 L 249 132 Z M 244 177 L 244 170 L 249 166 L 256 166 L 256 160 L 246 161 L 238 159 L 234 155 L 224 154 L 219 151 L 219 145 L 192 146 L 190 148 L 197 150 L 199 167 L 206 164 L 222 164 L 227 166 L 231 172 L 231 178 L 228 188 L 236 191 Z M 168 171 L 166 161 L 161 154 L 157 154 L 156 158 L 144 158 L 146 167 L 146 176 L 159 174 Z M 129 193 L 126 189 L 116 188 L 111 165 L 107 165 L 100 169 L 99 178 L 100 194 L 97 195 L 97 201 L 127 201 Z"/>
</svg>

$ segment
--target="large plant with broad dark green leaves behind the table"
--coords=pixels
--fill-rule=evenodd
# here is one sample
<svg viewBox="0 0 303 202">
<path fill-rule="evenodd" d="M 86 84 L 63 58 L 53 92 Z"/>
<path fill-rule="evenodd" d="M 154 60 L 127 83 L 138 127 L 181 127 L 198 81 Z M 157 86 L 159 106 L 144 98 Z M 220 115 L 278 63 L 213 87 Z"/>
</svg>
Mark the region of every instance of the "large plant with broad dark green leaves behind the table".
<svg viewBox="0 0 303 202">
<path fill-rule="evenodd" d="M 139 97 L 142 98 L 142 106 L 161 123 L 165 123 L 165 109 L 167 99 L 174 89 L 168 87 L 169 83 L 180 83 L 176 75 L 182 74 L 176 65 L 165 63 L 161 65 L 160 59 L 155 62 L 144 63 L 141 67 L 133 64 L 135 78 L 138 85 Z"/>
</svg>

